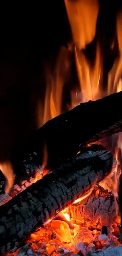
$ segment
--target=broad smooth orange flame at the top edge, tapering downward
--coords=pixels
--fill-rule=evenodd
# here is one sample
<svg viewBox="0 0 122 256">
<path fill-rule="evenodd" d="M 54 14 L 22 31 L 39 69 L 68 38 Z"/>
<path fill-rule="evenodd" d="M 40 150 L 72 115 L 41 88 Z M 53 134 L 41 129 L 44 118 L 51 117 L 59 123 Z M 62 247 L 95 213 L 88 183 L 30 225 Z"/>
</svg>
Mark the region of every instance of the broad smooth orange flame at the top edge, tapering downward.
<svg viewBox="0 0 122 256">
<path fill-rule="evenodd" d="M 76 47 L 85 49 L 95 36 L 99 2 L 97 0 L 64 0 Z"/>
</svg>

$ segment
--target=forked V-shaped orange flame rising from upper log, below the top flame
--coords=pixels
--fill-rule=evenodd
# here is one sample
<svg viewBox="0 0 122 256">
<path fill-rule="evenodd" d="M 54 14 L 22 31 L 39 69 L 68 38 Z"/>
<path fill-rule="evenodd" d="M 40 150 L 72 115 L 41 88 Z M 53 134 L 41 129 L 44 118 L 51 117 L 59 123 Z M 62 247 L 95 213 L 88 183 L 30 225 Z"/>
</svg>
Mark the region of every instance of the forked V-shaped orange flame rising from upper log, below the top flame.
<svg viewBox="0 0 122 256">
<path fill-rule="evenodd" d="M 100 77 L 101 77 L 101 53 L 99 45 L 96 50 L 96 61 L 95 65 L 92 68 L 88 63 L 84 53 L 79 51 L 75 46 L 75 59 L 77 74 L 82 91 L 82 102 L 87 102 L 88 100 L 96 100 L 101 98 L 103 92 L 100 88 Z"/>
</svg>

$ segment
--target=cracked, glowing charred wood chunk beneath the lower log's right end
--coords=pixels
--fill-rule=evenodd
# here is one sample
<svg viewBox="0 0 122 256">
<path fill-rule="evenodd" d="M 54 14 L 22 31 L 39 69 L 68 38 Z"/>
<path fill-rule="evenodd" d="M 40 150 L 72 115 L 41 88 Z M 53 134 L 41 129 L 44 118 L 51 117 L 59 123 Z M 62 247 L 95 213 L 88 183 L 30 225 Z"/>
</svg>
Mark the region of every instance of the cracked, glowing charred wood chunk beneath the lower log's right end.
<svg viewBox="0 0 122 256">
<path fill-rule="evenodd" d="M 116 210 L 117 201 L 115 197 L 96 186 L 91 195 L 81 202 L 69 206 L 67 212 L 74 222 L 80 223 L 85 220 L 88 221 L 91 228 L 100 230 L 103 225 L 106 225 L 110 228 L 113 227 L 116 233 L 118 229 Z"/>
</svg>

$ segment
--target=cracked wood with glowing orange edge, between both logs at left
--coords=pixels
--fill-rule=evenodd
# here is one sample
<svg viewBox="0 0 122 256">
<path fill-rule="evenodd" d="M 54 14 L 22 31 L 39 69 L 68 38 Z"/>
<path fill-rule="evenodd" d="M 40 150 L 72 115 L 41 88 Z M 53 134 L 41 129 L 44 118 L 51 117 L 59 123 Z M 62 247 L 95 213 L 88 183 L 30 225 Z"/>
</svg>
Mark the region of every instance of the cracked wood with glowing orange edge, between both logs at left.
<svg viewBox="0 0 122 256">
<path fill-rule="evenodd" d="M 33 184 L 37 176 L 39 179 L 46 174 L 44 168 L 40 166 L 35 160 L 35 155 L 36 152 L 34 151 L 31 155 L 28 155 L 26 160 L 24 158 L 21 159 L 20 162 L 18 160 L 18 163 L 16 162 L 18 168 L 17 165 L 15 168 L 15 165 L 13 164 L 15 169 L 14 186 L 10 191 L 9 195 L 5 194 L 5 176 L 0 171 L 0 205 L 3 204 L 4 201 L 9 200 L 10 198 L 21 192 L 23 189 L 26 189 L 28 186 Z"/>
</svg>

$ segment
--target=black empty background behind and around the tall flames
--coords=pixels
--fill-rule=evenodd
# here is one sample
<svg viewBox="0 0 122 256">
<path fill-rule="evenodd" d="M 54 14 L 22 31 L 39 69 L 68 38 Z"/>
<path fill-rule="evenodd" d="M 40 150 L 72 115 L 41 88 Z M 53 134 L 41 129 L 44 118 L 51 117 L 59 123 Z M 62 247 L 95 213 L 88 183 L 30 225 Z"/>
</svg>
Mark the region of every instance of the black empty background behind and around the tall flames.
<svg viewBox="0 0 122 256">
<path fill-rule="evenodd" d="M 101 39 L 105 58 L 119 9 L 119 1 L 101 1 L 96 38 Z M 37 129 L 36 106 L 45 96 L 43 63 L 54 63 L 60 46 L 70 39 L 63 0 L 0 6 L 0 161 Z M 116 54 L 104 60 L 106 69 Z"/>
</svg>

